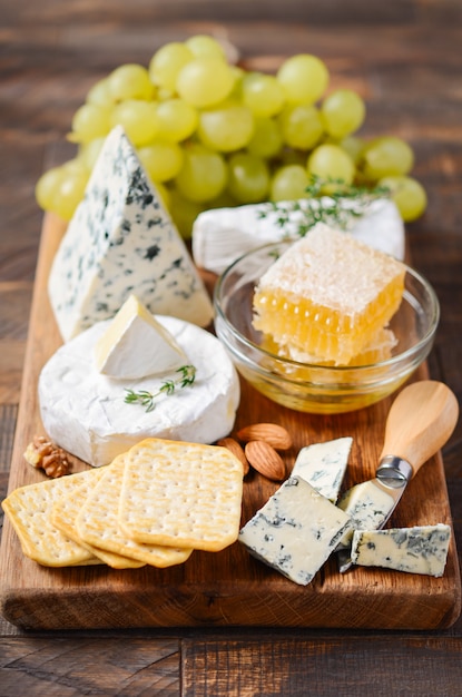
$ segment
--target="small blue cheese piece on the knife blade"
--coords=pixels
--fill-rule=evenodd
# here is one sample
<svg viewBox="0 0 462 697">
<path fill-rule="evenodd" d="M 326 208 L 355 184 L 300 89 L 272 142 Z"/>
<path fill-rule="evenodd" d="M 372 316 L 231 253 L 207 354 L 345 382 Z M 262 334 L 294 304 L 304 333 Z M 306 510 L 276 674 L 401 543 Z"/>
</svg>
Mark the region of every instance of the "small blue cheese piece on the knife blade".
<svg viewBox="0 0 462 697">
<path fill-rule="evenodd" d="M 394 498 L 371 480 L 352 487 L 341 498 L 337 505 L 350 516 L 353 530 L 376 530 L 393 509 Z M 344 536 L 341 544 L 348 544 L 352 534 L 353 532 L 350 531 Z"/>
</svg>

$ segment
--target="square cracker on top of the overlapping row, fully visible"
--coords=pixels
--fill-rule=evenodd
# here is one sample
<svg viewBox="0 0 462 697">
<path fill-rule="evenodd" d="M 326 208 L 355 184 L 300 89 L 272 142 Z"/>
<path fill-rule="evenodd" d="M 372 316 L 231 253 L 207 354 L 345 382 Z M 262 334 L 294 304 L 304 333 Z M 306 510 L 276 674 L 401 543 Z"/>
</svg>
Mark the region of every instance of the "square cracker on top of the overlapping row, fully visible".
<svg viewBox="0 0 462 697">
<path fill-rule="evenodd" d="M 146 439 L 126 453 L 119 526 L 140 543 L 218 551 L 237 539 L 242 494 L 226 448 Z"/>
</svg>

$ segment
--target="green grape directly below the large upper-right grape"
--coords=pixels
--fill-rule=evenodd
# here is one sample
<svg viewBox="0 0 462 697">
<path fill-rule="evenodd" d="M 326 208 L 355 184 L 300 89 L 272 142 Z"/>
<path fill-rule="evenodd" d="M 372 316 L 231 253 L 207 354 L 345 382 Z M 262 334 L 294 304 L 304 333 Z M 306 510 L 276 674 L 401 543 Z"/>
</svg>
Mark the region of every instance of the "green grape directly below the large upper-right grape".
<svg viewBox="0 0 462 697">
<path fill-rule="evenodd" d="M 323 135 L 320 111 L 312 105 L 291 105 L 279 114 L 283 140 L 291 148 L 311 150 Z"/>
</svg>

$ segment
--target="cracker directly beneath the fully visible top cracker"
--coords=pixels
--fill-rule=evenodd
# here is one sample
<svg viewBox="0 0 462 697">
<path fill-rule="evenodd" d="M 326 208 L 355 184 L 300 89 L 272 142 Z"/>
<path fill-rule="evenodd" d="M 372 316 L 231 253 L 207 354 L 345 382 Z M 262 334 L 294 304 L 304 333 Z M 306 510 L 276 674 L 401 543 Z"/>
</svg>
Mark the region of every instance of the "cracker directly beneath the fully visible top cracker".
<svg viewBox="0 0 462 697">
<path fill-rule="evenodd" d="M 119 494 L 125 469 L 125 455 L 118 455 L 87 498 L 76 518 L 80 539 L 99 549 L 138 559 L 154 567 L 170 567 L 186 561 L 193 549 L 140 544 L 127 538 L 118 527 Z"/>
</svg>

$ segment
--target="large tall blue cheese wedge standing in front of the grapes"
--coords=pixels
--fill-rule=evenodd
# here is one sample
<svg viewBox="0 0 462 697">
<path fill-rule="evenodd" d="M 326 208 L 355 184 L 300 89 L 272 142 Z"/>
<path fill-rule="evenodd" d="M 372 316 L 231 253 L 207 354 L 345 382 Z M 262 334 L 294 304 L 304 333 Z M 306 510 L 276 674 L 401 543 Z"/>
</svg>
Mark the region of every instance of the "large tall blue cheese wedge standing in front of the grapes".
<svg viewBox="0 0 462 697">
<path fill-rule="evenodd" d="M 107 137 L 48 284 L 63 341 L 112 317 L 132 293 L 153 314 L 213 318 L 193 259 L 118 126 Z"/>
</svg>

